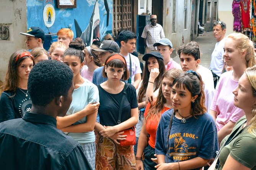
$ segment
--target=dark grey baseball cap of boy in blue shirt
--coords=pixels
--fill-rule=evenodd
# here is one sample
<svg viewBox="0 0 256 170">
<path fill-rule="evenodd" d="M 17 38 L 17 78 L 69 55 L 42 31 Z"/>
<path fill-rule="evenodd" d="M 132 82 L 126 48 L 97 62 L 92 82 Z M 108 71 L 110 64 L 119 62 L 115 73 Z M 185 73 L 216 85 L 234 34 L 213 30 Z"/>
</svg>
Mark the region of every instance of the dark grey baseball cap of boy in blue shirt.
<svg viewBox="0 0 256 170">
<path fill-rule="evenodd" d="M 104 40 L 99 48 L 92 49 L 94 51 L 107 52 L 110 51 L 112 53 L 120 53 L 120 47 L 113 40 Z"/>
</svg>

